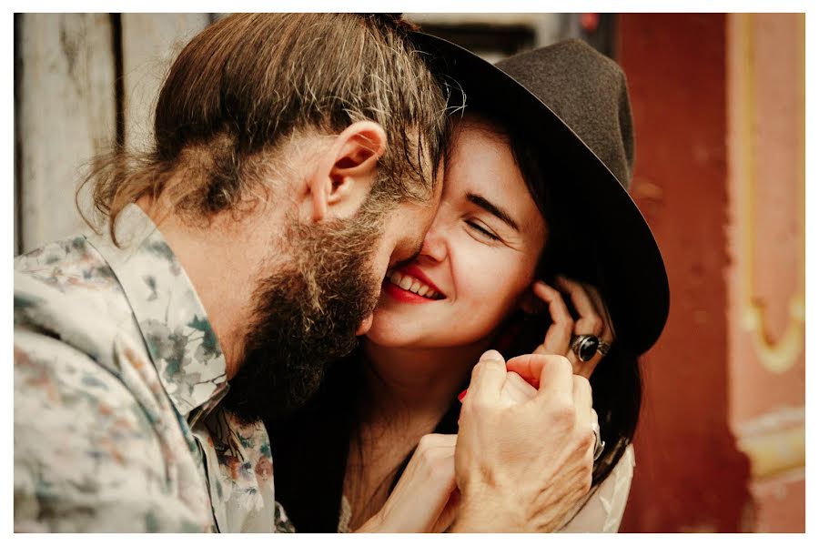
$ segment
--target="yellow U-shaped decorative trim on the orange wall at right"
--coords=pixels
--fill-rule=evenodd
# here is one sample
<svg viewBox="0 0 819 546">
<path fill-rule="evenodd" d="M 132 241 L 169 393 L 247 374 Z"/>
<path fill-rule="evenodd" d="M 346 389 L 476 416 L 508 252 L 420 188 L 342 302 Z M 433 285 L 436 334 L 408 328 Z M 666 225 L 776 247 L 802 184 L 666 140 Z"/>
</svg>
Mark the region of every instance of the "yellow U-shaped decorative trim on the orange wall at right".
<svg viewBox="0 0 819 546">
<path fill-rule="evenodd" d="M 782 373 L 794 366 L 796 359 L 802 354 L 804 349 L 804 230 L 802 239 L 802 265 L 797 271 L 799 276 L 801 292 L 795 294 L 788 301 L 788 325 L 784 335 L 778 342 L 771 342 L 765 336 L 764 308 L 761 304 L 753 300 L 753 227 L 757 224 L 754 221 L 755 189 L 756 180 L 753 166 L 753 127 L 756 124 L 754 111 L 756 96 L 753 72 L 753 14 L 737 14 L 740 18 L 741 47 L 743 59 L 741 65 L 742 80 L 740 100 L 742 101 L 742 116 L 739 123 L 742 130 L 739 131 L 740 147 L 742 149 L 743 170 L 741 173 L 741 195 L 740 195 L 740 233 L 742 234 L 743 248 L 743 275 L 740 280 L 740 320 L 742 328 L 749 332 L 753 342 L 753 348 L 762 362 L 765 369 L 773 373 Z M 797 41 L 800 48 L 798 55 L 802 58 L 802 120 L 803 131 L 799 142 L 801 144 L 801 165 L 799 184 L 804 195 L 804 15 L 802 15 L 800 40 Z M 797 214 L 802 219 L 804 227 L 804 204 L 798 207 Z M 804 433 L 803 433 L 804 435 Z"/>
</svg>

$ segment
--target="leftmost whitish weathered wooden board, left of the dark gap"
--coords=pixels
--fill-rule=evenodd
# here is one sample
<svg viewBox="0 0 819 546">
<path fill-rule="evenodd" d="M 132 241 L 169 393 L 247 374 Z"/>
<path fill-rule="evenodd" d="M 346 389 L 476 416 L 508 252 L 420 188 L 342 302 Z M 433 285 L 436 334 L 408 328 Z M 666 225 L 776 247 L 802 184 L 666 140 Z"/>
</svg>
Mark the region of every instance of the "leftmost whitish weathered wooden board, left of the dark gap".
<svg viewBox="0 0 819 546">
<path fill-rule="evenodd" d="M 109 15 L 17 17 L 19 251 L 81 226 L 76 182 L 81 167 L 113 142 L 116 74 Z"/>
</svg>

